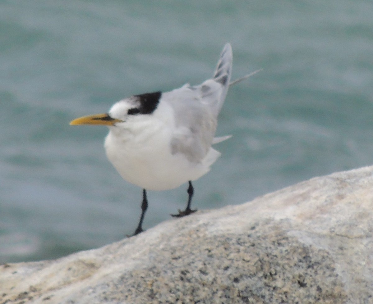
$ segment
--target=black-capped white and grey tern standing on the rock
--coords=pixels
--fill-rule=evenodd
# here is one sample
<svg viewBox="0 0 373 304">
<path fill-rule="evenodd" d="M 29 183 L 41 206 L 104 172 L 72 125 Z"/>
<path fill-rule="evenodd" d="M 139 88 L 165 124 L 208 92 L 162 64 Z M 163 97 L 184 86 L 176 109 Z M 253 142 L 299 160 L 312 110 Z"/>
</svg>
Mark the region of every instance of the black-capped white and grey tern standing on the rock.
<svg viewBox="0 0 373 304">
<path fill-rule="evenodd" d="M 258 71 L 256 71 L 258 72 Z M 211 146 L 231 136 L 214 137 L 217 117 L 230 83 L 232 47 L 223 47 L 212 78 L 200 85 L 189 83 L 169 92 L 133 95 L 116 102 L 108 113 L 76 118 L 70 125 L 109 127 L 104 148 L 123 179 L 142 188 L 141 216 L 133 235 L 144 231 L 148 190 L 175 189 L 188 183 L 185 210 L 194 213 L 192 182 L 210 171 L 220 152 Z"/>
</svg>

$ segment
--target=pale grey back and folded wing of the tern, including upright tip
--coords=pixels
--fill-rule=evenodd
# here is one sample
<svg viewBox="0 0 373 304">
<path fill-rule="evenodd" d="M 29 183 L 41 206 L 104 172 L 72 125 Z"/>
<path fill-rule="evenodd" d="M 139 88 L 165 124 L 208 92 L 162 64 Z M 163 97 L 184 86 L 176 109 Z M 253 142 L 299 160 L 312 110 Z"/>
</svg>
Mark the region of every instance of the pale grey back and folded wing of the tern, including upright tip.
<svg viewBox="0 0 373 304">
<path fill-rule="evenodd" d="M 228 92 L 232 73 L 232 48 L 227 43 L 220 54 L 213 78 L 198 86 L 186 84 L 162 94 L 175 114 L 176 131 L 171 151 L 183 153 L 191 162 L 200 162 L 207 155 L 217 126 L 217 115 Z"/>
</svg>

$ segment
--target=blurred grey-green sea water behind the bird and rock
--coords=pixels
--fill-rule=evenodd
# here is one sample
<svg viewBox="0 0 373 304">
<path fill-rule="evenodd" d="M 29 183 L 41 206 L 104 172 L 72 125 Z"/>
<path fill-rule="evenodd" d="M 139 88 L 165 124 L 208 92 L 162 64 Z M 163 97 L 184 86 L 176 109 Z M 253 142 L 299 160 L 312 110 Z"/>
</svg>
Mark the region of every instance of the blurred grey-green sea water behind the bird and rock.
<svg viewBox="0 0 373 304">
<path fill-rule="evenodd" d="M 103 126 L 69 126 L 124 97 L 233 77 L 198 209 L 241 204 L 373 164 L 373 2 L 0 1 L 0 263 L 122 239 L 141 189 L 106 159 Z M 184 208 L 187 185 L 148 192 L 144 228 Z M 372 189 L 373 191 L 373 189 Z"/>
</svg>

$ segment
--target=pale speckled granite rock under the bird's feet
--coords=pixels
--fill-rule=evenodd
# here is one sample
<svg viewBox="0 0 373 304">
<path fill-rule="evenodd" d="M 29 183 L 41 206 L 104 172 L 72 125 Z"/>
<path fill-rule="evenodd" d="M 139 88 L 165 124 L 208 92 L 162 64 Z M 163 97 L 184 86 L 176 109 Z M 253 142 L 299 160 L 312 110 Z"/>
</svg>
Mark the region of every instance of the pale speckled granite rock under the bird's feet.
<svg viewBox="0 0 373 304">
<path fill-rule="evenodd" d="M 373 303 L 373 167 L 0 265 L 0 303 Z"/>
</svg>

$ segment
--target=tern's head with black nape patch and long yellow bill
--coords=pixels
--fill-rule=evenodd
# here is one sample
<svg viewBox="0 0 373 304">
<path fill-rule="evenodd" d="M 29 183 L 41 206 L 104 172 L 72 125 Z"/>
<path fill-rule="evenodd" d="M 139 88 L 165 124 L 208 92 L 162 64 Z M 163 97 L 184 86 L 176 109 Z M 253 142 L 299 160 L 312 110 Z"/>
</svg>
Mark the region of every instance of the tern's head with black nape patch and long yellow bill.
<svg viewBox="0 0 373 304">
<path fill-rule="evenodd" d="M 161 92 L 134 95 L 130 98 L 118 101 L 110 109 L 109 113 L 95 114 L 76 118 L 70 121 L 71 125 L 100 124 L 115 126 L 116 123 L 124 123 L 135 115 L 151 114 L 157 108 Z"/>
</svg>

